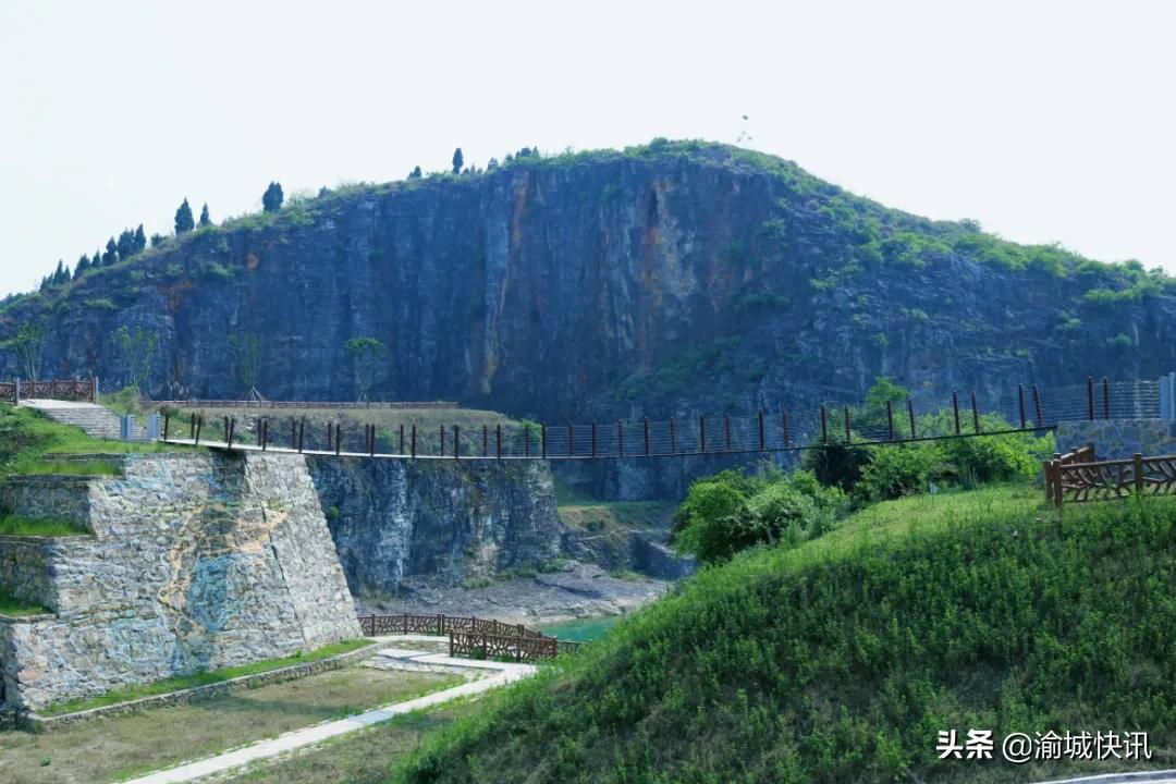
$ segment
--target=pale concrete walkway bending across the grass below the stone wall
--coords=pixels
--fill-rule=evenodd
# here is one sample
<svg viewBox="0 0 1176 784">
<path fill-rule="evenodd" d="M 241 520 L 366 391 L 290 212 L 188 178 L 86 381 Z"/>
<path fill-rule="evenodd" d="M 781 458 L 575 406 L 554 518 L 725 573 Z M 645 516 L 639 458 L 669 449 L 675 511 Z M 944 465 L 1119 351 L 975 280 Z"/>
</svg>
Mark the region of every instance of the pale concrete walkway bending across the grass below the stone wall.
<svg viewBox="0 0 1176 784">
<path fill-rule="evenodd" d="M 413 642 L 414 639 L 448 642 L 448 637 L 428 637 L 423 635 L 379 637 L 377 639 L 386 643 Z M 388 661 L 401 663 L 402 665 L 419 664 L 422 669 L 428 669 L 430 666 L 446 669 L 457 668 L 467 672 L 475 674 L 475 677 L 481 677 L 477 681 L 470 681 L 469 683 L 463 683 L 459 686 L 446 689 L 445 691 L 435 691 L 430 695 L 417 697 L 416 699 L 386 705 L 385 708 L 369 710 L 367 712 L 358 713 L 355 716 L 349 716 L 334 722 L 325 722 L 322 724 L 306 726 L 301 730 L 293 730 L 290 732 L 286 732 L 285 735 L 280 735 L 276 738 L 260 741 L 252 745 L 235 749 L 234 751 L 216 755 L 215 757 L 207 757 L 205 759 L 198 759 L 196 762 L 185 763 L 176 768 L 155 771 L 154 773 L 148 773 L 141 778 L 131 779 L 129 784 L 171 784 L 173 782 L 192 782 L 214 773 L 223 773 L 236 768 L 242 768 L 259 759 L 276 757 L 296 749 L 322 743 L 328 738 L 346 735 L 347 732 L 354 732 L 355 730 L 362 730 L 372 726 L 373 724 L 380 724 L 381 722 L 387 722 L 394 716 L 401 716 L 422 708 L 432 708 L 452 699 L 469 697 L 490 689 L 496 689 L 501 685 L 506 685 L 507 683 L 526 678 L 535 672 L 535 666 L 530 664 L 480 662 L 475 659 L 455 658 L 445 654 L 426 654 L 419 650 L 409 650 L 393 645 L 381 648 L 376 651 L 375 656 L 377 659 L 382 657 Z M 493 672 L 493 675 L 486 677 L 486 672 Z"/>
</svg>

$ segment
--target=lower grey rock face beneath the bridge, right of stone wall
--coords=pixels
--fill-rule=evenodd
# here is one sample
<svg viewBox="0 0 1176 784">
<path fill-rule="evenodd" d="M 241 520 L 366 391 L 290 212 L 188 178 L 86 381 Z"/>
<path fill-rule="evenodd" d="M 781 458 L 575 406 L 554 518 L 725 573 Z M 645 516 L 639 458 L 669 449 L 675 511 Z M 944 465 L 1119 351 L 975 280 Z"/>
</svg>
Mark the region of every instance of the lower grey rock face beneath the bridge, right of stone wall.
<svg viewBox="0 0 1176 784">
<path fill-rule="evenodd" d="M 547 463 L 308 457 L 347 582 L 395 591 L 413 575 L 449 583 L 541 567 L 561 555 Z"/>
</svg>

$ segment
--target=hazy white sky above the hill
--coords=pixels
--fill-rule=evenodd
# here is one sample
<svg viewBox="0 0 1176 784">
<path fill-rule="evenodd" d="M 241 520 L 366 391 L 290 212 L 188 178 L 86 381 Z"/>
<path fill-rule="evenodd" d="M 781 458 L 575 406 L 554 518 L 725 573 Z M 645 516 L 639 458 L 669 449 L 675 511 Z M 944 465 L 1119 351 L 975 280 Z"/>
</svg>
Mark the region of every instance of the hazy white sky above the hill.
<svg viewBox="0 0 1176 784">
<path fill-rule="evenodd" d="M 407 6 L 407 4 L 405 4 Z M 1176 4 L 0 0 L 0 295 L 123 227 L 537 145 L 744 142 L 1176 273 Z M 743 122 L 741 115 L 748 115 Z"/>
</svg>

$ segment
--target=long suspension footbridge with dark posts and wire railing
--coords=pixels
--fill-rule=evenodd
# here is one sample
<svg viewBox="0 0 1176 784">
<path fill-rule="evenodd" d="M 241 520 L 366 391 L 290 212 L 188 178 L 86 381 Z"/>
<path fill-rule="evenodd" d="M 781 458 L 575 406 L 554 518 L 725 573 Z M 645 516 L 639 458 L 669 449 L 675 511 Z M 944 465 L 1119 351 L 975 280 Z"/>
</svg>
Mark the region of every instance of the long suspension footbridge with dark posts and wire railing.
<svg viewBox="0 0 1176 784">
<path fill-rule="evenodd" d="M 983 401 L 983 402 L 982 402 Z M 229 448 L 288 449 L 318 454 L 392 455 L 449 460 L 609 458 L 768 453 L 823 445 L 898 443 L 942 437 L 1027 433 L 1067 420 L 1158 416 L 1158 382 L 1037 387 L 1007 395 L 914 395 L 875 404 L 866 416 L 849 404 L 759 411 L 753 415 L 671 417 L 610 422 L 490 422 L 481 425 L 327 421 L 296 415 L 235 414 L 165 420 L 166 438 Z M 997 416 L 990 416 L 990 415 Z"/>
</svg>

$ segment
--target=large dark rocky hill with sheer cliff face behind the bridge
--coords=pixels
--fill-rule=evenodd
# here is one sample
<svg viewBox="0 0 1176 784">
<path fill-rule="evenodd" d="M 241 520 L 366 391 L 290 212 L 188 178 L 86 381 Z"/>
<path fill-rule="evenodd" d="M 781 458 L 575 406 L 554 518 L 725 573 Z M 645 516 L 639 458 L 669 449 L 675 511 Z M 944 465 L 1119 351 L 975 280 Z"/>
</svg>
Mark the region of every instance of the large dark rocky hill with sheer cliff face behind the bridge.
<svg viewBox="0 0 1176 784">
<path fill-rule="evenodd" d="M 354 400 L 370 382 L 559 418 L 858 401 L 884 374 L 984 404 L 1009 380 L 1169 370 L 1172 292 L 1134 262 L 657 140 L 340 187 L 167 239 L 0 307 L 0 376 L 155 398 Z M 345 346 L 362 337 L 387 350 L 360 374 Z"/>
</svg>

